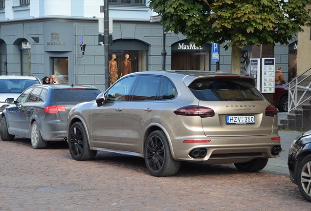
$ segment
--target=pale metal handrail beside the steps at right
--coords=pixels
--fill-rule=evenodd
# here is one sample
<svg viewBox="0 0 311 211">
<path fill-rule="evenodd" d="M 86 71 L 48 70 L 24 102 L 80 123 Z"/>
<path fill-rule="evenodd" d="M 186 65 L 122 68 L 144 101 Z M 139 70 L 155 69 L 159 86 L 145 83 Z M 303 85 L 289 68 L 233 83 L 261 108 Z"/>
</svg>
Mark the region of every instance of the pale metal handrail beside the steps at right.
<svg viewBox="0 0 311 211">
<path fill-rule="evenodd" d="M 301 83 L 306 81 L 308 78 L 311 78 L 311 73 L 304 78 L 302 77 L 310 70 L 311 70 L 311 67 L 309 69 L 307 69 L 306 71 L 304 71 L 303 73 L 301 73 L 299 76 L 295 77 L 292 81 L 289 82 L 289 84 L 286 85 L 289 87 L 289 109 L 288 109 L 288 112 L 292 111 L 293 109 L 297 108 L 299 105 L 301 105 L 301 104 L 305 103 L 307 100 L 311 99 L 311 94 L 308 93 L 311 91 L 311 81 L 307 86 L 301 85 Z M 301 78 L 303 78 L 303 79 L 301 79 Z M 301 94 L 300 97 L 298 96 L 298 93 Z"/>
</svg>

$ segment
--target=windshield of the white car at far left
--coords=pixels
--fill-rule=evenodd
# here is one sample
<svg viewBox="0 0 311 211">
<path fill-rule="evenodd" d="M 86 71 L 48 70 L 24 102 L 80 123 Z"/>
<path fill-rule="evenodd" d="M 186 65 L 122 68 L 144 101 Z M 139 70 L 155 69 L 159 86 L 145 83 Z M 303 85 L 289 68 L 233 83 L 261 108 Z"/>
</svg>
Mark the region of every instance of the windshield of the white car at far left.
<svg viewBox="0 0 311 211">
<path fill-rule="evenodd" d="M 0 79 L 0 93 L 22 93 L 33 84 L 39 84 L 39 82 L 26 79 Z"/>
</svg>

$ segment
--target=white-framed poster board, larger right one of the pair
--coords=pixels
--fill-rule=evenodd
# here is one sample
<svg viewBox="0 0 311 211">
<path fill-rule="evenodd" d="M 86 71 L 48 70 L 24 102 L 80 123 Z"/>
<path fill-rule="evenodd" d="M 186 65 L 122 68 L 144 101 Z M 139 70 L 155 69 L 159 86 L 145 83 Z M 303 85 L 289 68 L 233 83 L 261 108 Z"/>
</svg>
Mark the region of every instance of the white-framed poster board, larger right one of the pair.
<svg viewBox="0 0 311 211">
<path fill-rule="evenodd" d="M 274 93 L 275 58 L 262 59 L 261 93 Z"/>
</svg>

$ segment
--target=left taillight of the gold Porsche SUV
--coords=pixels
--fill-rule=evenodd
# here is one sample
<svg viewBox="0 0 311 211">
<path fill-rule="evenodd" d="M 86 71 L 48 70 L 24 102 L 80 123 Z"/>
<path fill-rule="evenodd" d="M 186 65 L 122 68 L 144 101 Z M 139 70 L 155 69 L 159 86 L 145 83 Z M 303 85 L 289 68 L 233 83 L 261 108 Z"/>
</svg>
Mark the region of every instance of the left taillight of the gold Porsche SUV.
<svg viewBox="0 0 311 211">
<path fill-rule="evenodd" d="M 200 116 L 201 118 L 215 116 L 212 108 L 198 105 L 186 105 L 178 108 L 174 113 L 182 116 Z"/>
</svg>

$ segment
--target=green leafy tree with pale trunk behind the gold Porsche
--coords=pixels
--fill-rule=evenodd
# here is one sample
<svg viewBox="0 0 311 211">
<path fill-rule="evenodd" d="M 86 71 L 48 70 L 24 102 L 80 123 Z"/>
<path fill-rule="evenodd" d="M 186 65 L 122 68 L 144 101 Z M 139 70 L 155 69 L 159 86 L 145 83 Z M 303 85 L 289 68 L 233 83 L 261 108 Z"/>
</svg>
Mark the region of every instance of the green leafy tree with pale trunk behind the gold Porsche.
<svg viewBox="0 0 311 211">
<path fill-rule="evenodd" d="M 240 74 L 245 44 L 289 44 L 288 40 L 310 26 L 310 0 L 150 0 L 162 16 L 166 31 L 181 33 L 191 43 L 228 41 L 232 47 L 231 73 Z"/>
</svg>

